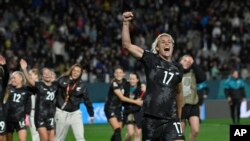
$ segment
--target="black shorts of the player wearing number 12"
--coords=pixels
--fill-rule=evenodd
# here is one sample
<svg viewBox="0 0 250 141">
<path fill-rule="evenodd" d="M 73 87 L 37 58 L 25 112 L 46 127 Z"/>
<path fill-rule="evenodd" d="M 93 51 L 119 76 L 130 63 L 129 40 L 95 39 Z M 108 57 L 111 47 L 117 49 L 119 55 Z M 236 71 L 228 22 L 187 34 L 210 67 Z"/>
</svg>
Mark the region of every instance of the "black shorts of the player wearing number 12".
<svg viewBox="0 0 250 141">
<path fill-rule="evenodd" d="M 21 129 L 26 129 L 25 119 L 22 118 L 18 121 L 7 121 L 6 132 L 13 133 L 18 132 Z"/>
</svg>

